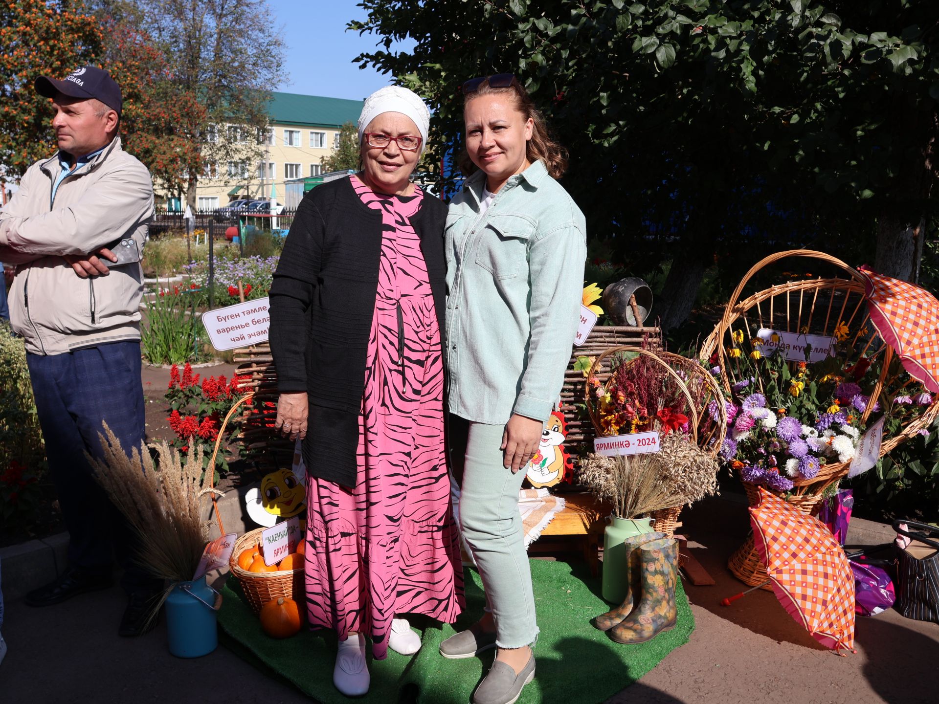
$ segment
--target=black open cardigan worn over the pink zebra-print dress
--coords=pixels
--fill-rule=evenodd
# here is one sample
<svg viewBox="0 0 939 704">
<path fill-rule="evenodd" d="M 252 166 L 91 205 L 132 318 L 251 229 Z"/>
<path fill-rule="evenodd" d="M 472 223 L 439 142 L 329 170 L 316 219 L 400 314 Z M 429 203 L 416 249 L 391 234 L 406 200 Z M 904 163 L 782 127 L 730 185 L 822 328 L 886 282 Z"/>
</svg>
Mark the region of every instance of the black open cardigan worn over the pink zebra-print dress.
<svg viewBox="0 0 939 704">
<path fill-rule="evenodd" d="M 447 207 L 424 194 L 410 219 L 421 237 L 441 337 L 446 217 Z M 317 186 L 300 201 L 270 286 L 269 340 L 278 390 L 306 391 L 310 402 L 303 441 L 307 473 L 345 486 L 356 484 L 381 232 L 381 213 L 362 203 L 348 178 Z"/>
</svg>

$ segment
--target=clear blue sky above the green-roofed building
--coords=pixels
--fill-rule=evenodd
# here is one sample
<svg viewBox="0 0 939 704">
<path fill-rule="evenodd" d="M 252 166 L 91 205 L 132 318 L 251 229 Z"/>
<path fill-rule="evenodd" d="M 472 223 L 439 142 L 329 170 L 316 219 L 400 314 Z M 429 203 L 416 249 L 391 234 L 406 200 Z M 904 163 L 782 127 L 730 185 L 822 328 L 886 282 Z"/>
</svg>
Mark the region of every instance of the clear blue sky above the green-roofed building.
<svg viewBox="0 0 939 704">
<path fill-rule="evenodd" d="M 352 59 L 372 51 L 375 35 L 346 32 L 349 20 L 363 20 L 357 0 L 268 0 L 275 26 L 284 27 L 284 84 L 275 90 L 330 98 L 361 100 L 391 74 L 359 69 Z M 408 42 L 410 43 L 410 42 Z M 402 46 L 407 47 L 408 44 Z"/>
</svg>

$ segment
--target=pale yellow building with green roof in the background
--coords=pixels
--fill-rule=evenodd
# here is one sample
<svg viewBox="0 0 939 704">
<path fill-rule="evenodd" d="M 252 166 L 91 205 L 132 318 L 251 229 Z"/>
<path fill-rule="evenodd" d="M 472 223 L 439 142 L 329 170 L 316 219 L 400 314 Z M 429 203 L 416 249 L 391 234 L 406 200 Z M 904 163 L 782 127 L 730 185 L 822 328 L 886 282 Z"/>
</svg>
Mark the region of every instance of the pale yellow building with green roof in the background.
<svg viewBox="0 0 939 704">
<path fill-rule="evenodd" d="M 322 161 L 338 145 L 340 128 L 355 124 L 361 113 L 362 100 L 271 93 L 270 127 L 260 159 L 207 164 L 196 207 L 211 210 L 239 198 L 266 200 L 271 187 L 283 204 L 285 181 L 318 176 Z M 168 205 L 175 204 L 168 199 Z"/>
</svg>

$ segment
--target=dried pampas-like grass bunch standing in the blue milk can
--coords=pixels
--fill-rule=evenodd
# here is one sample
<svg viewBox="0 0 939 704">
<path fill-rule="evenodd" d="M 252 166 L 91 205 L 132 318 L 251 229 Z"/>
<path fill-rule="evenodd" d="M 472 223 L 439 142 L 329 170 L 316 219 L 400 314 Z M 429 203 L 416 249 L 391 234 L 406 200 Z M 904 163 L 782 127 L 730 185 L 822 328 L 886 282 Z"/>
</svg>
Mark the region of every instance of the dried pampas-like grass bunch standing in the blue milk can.
<svg viewBox="0 0 939 704">
<path fill-rule="evenodd" d="M 128 457 L 107 423 L 99 437 L 104 457 L 88 460 L 95 479 L 140 536 L 137 561 L 171 583 L 191 580 L 208 542 L 199 503 L 211 494 L 221 496 L 205 485 L 202 447 L 191 445 L 183 462 L 165 441 L 153 444 L 154 464 L 143 444 Z"/>
</svg>

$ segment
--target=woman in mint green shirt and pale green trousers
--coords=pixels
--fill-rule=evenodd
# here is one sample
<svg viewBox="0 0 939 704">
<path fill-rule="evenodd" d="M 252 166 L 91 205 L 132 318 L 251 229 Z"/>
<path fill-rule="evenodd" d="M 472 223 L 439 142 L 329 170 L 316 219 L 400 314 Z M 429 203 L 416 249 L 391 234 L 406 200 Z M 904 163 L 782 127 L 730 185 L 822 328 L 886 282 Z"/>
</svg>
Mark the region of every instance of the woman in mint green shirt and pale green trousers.
<svg viewBox="0 0 939 704">
<path fill-rule="evenodd" d="M 511 74 L 463 85 L 471 176 L 447 216 L 447 362 L 460 523 L 488 608 L 440 653 L 498 648 L 473 694 L 508 704 L 534 678 L 538 635 L 518 513 L 571 356 L 587 256 L 584 217 L 555 180 L 565 152 Z"/>
</svg>

